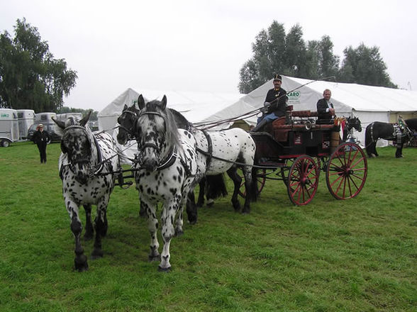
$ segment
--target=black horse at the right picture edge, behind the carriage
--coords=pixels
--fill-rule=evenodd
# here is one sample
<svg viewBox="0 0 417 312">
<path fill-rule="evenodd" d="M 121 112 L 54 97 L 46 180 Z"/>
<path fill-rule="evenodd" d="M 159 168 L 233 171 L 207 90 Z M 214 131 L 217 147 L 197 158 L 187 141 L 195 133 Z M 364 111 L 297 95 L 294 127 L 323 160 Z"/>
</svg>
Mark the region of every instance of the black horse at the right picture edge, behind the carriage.
<svg viewBox="0 0 417 312">
<path fill-rule="evenodd" d="M 395 157 L 401 158 L 404 143 L 410 140 L 413 131 L 417 131 L 417 118 L 406 119 L 404 129 L 396 123 L 369 123 L 365 131 L 365 149 L 368 157 L 377 157 L 377 141 L 379 138 L 396 142 Z"/>
</svg>

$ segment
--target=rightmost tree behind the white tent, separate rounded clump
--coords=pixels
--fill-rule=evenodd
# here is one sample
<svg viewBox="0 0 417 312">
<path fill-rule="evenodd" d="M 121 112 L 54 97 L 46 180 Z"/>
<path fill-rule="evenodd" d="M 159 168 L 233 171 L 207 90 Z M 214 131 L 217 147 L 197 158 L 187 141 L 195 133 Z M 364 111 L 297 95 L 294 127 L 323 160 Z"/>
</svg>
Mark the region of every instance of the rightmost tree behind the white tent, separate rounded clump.
<svg viewBox="0 0 417 312">
<path fill-rule="evenodd" d="M 340 68 L 340 82 L 398 88 L 389 78 L 387 65 L 379 54 L 379 48 L 368 48 L 361 43 L 356 49 L 352 46 L 345 48 L 343 53 L 345 60 Z"/>
</svg>

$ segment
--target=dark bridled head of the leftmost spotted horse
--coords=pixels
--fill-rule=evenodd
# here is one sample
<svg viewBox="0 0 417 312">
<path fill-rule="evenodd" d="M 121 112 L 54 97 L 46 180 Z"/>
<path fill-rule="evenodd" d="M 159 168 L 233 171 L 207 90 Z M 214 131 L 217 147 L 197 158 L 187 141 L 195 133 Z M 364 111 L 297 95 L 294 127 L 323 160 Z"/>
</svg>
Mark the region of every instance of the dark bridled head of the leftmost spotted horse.
<svg viewBox="0 0 417 312">
<path fill-rule="evenodd" d="M 62 129 L 61 151 L 67 154 L 70 162 L 70 169 L 75 174 L 75 179 L 84 184 L 89 178 L 89 169 L 92 155 L 92 140 L 94 140 L 91 130 L 86 127 L 91 111 L 81 121 L 76 123 L 74 119 L 68 119 L 65 123 L 55 121 Z"/>
</svg>

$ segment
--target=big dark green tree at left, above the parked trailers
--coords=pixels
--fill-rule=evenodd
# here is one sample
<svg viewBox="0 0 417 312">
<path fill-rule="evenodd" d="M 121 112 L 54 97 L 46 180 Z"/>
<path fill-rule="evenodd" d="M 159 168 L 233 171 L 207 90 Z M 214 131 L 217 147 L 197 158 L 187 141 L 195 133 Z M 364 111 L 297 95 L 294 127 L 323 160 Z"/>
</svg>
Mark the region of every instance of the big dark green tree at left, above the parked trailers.
<svg viewBox="0 0 417 312">
<path fill-rule="evenodd" d="M 48 43 L 26 19 L 17 20 L 15 36 L 0 35 L 0 106 L 57 111 L 75 87 L 77 72 L 55 60 Z"/>
</svg>

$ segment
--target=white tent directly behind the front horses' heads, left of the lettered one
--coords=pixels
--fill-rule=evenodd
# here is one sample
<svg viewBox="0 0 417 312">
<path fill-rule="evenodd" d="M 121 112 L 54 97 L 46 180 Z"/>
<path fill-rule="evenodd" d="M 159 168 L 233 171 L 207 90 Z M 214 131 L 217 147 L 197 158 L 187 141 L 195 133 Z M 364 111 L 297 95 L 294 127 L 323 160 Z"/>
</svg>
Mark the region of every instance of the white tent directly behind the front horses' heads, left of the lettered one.
<svg viewBox="0 0 417 312">
<path fill-rule="evenodd" d="M 164 95 L 167 96 L 167 107 L 174 108 L 187 118 L 191 123 L 203 121 L 206 117 L 211 116 L 216 111 L 220 111 L 230 106 L 242 97 L 244 94 L 223 94 L 214 92 L 194 92 L 194 91 L 158 91 L 140 89 L 140 93 L 133 89 L 127 89 L 108 106 L 103 108 L 98 114 L 99 130 L 106 130 L 111 133 L 114 138 L 118 130 L 113 128 L 118 126 L 117 118 L 121 115 L 125 104 L 132 106 L 136 104 L 139 94 L 143 94 L 145 101 L 154 99 L 161 100 Z M 137 148 L 135 143 L 126 149 L 126 155 L 133 157 Z"/>
</svg>

